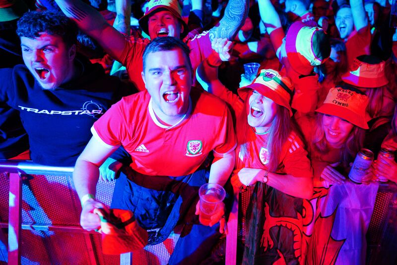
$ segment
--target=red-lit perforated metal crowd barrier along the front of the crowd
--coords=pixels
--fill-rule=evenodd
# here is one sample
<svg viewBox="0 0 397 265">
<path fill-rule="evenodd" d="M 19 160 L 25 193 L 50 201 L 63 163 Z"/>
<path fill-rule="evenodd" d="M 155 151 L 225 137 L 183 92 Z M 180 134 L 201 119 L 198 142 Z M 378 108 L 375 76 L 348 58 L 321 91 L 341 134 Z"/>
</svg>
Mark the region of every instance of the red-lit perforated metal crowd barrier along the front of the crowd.
<svg viewBox="0 0 397 265">
<path fill-rule="evenodd" d="M 178 236 L 142 251 L 102 254 L 101 235 L 79 225 L 80 201 L 73 168 L 0 160 L 0 264 L 167 264 Z M 110 205 L 115 182 L 99 181 L 96 198 Z M 251 192 L 234 192 L 228 221 L 226 265 L 236 264 L 245 234 L 244 209 Z M 240 213 L 239 213 L 240 197 Z M 8 246 L 8 248 L 7 248 Z M 380 183 L 367 233 L 367 264 L 397 264 L 397 185 Z"/>
</svg>

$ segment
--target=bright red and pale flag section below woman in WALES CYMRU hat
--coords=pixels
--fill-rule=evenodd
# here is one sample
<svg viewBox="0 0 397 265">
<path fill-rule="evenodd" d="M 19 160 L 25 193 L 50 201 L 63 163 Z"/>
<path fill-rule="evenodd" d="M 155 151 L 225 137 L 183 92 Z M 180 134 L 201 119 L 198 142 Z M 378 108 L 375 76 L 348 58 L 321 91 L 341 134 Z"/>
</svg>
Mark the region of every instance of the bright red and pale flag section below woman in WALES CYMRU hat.
<svg viewBox="0 0 397 265">
<path fill-rule="evenodd" d="M 365 264 L 365 235 L 377 191 L 378 182 L 364 185 L 349 180 L 329 188 L 315 188 L 309 205 L 313 221 L 303 231 L 305 264 Z"/>
</svg>

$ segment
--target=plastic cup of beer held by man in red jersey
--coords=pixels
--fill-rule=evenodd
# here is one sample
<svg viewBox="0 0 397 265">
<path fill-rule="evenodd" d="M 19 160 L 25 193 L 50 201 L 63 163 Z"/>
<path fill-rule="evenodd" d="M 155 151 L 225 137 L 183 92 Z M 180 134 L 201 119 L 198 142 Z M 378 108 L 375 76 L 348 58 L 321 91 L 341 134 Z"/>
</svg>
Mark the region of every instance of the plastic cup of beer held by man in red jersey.
<svg viewBox="0 0 397 265">
<path fill-rule="evenodd" d="M 206 183 L 199 189 L 200 214 L 199 221 L 202 225 L 208 226 L 211 216 L 222 207 L 222 201 L 226 196 L 225 189 L 215 183 Z"/>
</svg>

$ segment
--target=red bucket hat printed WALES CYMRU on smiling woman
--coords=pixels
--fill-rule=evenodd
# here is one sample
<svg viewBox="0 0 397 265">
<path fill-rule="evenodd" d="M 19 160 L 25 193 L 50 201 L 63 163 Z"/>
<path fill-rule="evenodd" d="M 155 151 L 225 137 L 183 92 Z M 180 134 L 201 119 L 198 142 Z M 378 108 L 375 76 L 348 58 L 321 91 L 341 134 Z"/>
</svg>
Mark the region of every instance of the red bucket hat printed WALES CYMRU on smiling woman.
<svg viewBox="0 0 397 265">
<path fill-rule="evenodd" d="M 368 97 L 356 91 L 336 87 L 328 92 L 324 103 L 316 109 L 317 112 L 337 116 L 348 122 L 368 129 L 369 114 L 366 112 Z"/>
</svg>

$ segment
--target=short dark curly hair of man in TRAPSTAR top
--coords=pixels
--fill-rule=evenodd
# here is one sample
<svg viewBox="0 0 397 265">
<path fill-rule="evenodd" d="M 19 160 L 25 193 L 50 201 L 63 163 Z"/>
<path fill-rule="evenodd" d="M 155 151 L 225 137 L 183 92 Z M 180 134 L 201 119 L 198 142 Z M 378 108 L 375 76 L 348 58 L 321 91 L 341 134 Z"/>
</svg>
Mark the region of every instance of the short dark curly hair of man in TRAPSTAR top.
<svg viewBox="0 0 397 265">
<path fill-rule="evenodd" d="M 77 42 L 77 30 L 77 25 L 60 11 L 31 11 L 18 20 L 16 34 L 34 39 L 45 32 L 60 36 L 70 47 Z"/>
</svg>

